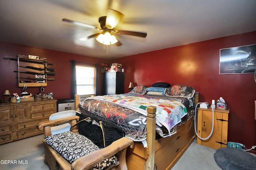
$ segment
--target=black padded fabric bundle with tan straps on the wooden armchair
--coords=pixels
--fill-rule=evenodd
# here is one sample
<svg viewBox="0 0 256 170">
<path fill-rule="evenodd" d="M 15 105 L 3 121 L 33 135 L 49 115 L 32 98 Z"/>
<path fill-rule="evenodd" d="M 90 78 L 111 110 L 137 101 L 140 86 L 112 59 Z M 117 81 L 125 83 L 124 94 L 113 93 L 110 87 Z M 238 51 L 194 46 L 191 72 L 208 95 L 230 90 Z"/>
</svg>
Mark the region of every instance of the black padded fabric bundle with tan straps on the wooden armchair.
<svg viewBox="0 0 256 170">
<path fill-rule="evenodd" d="M 102 117 L 82 114 L 78 116 L 79 122 L 76 125 L 78 125 L 79 133 L 90 139 L 99 148 L 107 147 L 125 136 L 121 127 Z"/>
</svg>

